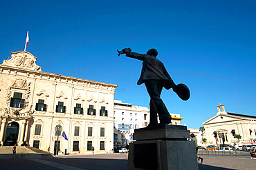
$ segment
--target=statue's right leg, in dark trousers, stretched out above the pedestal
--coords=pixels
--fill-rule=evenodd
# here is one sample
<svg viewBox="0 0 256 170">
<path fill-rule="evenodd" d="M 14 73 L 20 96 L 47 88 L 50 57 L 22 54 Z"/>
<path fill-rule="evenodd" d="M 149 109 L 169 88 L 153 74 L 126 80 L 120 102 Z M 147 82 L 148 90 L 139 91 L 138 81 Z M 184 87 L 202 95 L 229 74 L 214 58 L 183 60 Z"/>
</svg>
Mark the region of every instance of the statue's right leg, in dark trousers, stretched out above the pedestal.
<svg viewBox="0 0 256 170">
<path fill-rule="evenodd" d="M 161 81 L 150 80 L 146 81 L 145 85 L 147 87 L 147 92 L 149 93 L 151 101 L 154 104 L 154 107 L 158 113 L 160 123 L 171 123 L 172 117 L 170 116 L 169 111 L 165 107 L 163 100 L 160 98 L 163 89 Z"/>
</svg>

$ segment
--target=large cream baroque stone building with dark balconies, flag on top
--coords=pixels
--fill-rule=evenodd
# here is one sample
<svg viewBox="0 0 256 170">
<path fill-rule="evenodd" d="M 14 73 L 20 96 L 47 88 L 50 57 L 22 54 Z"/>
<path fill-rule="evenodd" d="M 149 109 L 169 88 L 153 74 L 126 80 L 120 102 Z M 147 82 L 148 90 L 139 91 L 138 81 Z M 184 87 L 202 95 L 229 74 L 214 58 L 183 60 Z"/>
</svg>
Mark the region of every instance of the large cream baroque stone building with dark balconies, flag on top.
<svg viewBox="0 0 256 170">
<path fill-rule="evenodd" d="M 26 141 L 51 152 L 57 143 L 69 153 L 86 153 L 91 147 L 111 151 L 117 85 L 42 72 L 36 59 L 29 52 L 12 52 L 0 65 L 1 143 Z M 57 125 L 61 132 L 55 131 Z"/>
</svg>

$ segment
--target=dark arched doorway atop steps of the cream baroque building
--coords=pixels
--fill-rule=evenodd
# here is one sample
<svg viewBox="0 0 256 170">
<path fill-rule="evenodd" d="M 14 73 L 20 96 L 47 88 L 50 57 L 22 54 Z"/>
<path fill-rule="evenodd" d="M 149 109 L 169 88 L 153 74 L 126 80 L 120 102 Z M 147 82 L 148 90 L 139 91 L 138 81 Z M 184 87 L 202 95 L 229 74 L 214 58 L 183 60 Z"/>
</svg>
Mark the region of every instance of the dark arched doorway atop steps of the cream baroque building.
<svg viewBox="0 0 256 170">
<path fill-rule="evenodd" d="M 17 144 L 19 136 L 19 123 L 11 122 L 8 123 L 6 129 L 6 138 L 4 140 L 3 145 L 5 146 L 13 146 Z"/>
</svg>

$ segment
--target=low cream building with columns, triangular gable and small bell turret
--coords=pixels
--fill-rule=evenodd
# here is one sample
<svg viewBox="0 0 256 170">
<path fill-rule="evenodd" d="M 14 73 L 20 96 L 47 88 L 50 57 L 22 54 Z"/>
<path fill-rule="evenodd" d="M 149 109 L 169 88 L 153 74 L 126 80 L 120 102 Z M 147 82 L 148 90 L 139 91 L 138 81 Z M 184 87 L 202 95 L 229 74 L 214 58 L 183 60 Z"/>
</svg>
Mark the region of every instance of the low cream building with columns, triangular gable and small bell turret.
<svg viewBox="0 0 256 170">
<path fill-rule="evenodd" d="M 255 142 L 256 116 L 226 112 L 224 105 L 221 104 L 217 106 L 217 110 L 216 116 L 203 123 L 203 138 L 207 139 L 206 144 L 247 145 Z M 236 134 L 241 136 L 240 140 L 234 138 Z"/>
</svg>

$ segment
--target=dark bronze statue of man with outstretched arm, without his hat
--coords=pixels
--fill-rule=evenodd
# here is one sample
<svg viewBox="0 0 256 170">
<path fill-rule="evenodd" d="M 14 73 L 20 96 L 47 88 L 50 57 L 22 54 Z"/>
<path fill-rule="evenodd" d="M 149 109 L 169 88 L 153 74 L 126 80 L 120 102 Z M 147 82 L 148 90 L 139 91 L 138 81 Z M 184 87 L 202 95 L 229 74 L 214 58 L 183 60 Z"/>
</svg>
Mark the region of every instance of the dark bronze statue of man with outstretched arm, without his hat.
<svg viewBox="0 0 256 170">
<path fill-rule="evenodd" d="M 156 59 L 158 54 L 157 50 L 151 49 L 147 51 L 147 54 L 138 54 L 136 52 L 131 52 L 130 48 L 125 48 L 118 52 L 118 55 L 126 54 L 128 57 L 143 61 L 143 69 L 137 84 L 141 85 L 145 83 L 147 92 L 150 96 L 150 123 L 148 127 L 170 124 L 172 117 L 160 96 L 163 87 L 165 87 L 165 89 L 175 89 L 176 85 L 166 71 L 163 63 Z M 157 122 L 157 114 L 160 119 L 159 124 Z"/>
</svg>

